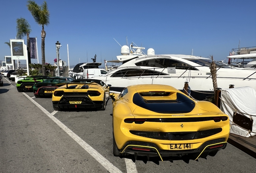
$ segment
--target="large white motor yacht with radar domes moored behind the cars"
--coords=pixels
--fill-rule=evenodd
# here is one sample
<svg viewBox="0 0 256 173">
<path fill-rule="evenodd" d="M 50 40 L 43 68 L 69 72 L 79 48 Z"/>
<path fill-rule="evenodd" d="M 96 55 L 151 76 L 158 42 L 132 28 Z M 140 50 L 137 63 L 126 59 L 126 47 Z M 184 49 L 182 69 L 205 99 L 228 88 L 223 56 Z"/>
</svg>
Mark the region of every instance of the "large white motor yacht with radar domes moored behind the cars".
<svg viewBox="0 0 256 173">
<path fill-rule="evenodd" d="M 98 79 L 111 84 L 112 91 L 121 91 L 132 84 L 167 84 L 182 90 L 184 82 L 188 82 L 192 92 L 213 93 L 209 68 L 211 59 L 182 54 L 156 55 L 152 48 L 144 54 L 142 49 L 145 48 L 122 46 L 122 55 L 117 56 L 122 65 Z M 227 89 L 233 84 L 234 87 L 249 86 L 256 90 L 255 70 L 241 70 L 215 63 L 219 88 Z"/>
</svg>

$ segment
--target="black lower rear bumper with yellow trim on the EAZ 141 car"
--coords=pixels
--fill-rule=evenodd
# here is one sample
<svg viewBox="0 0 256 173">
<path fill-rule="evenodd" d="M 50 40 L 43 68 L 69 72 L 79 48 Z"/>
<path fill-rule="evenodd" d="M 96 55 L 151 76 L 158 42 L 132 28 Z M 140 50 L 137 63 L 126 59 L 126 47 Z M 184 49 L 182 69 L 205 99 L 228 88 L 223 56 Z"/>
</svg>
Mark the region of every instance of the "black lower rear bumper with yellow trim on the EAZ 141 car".
<svg viewBox="0 0 256 173">
<path fill-rule="evenodd" d="M 206 141 L 197 149 L 190 150 L 161 150 L 159 147 L 157 147 L 157 145 L 153 143 L 129 141 L 122 147 L 122 149 L 120 149 L 120 153 L 133 154 L 135 157 L 160 157 L 162 161 L 168 157 L 183 156 L 196 160 L 199 157 L 206 158 L 207 155 L 214 156 L 220 149 L 225 149 L 226 146 L 227 142 L 225 141 L 225 138 Z"/>
</svg>

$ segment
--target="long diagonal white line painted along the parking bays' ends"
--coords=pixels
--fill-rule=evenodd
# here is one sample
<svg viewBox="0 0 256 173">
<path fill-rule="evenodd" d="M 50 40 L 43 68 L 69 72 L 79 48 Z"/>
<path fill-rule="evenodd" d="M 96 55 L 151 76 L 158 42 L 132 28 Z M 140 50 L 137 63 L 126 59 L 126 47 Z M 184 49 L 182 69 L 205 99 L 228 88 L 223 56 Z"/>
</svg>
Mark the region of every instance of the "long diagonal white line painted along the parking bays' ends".
<svg viewBox="0 0 256 173">
<path fill-rule="evenodd" d="M 94 159 L 96 159 L 107 171 L 110 173 L 122 173 L 117 167 L 115 167 L 112 163 L 110 163 L 105 157 L 103 157 L 100 153 L 98 153 L 93 147 L 87 144 L 83 139 L 78 137 L 74 132 L 72 132 L 68 127 L 66 127 L 63 123 L 61 123 L 58 119 L 56 119 L 53 115 L 51 115 L 48 111 L 46 111 L 41 105 L 31 99 L 27 94 L 23 93 L 32 103 L 34 103 L 41 111 L 43 111 L 52 121 L 54 121 L 60 128 L 62 128 L 70 137 L 72 137 L 81 147 L 85 149 Z"/>
</svg>

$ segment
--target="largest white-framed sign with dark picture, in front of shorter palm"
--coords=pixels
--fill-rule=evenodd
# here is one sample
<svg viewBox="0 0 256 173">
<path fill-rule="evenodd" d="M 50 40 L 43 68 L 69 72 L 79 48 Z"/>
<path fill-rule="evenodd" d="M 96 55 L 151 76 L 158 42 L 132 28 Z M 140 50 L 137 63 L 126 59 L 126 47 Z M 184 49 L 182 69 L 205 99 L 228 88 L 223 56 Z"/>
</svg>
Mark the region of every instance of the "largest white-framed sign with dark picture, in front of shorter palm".
<svg viewBox="0 0 256 173">
<path fill-rule="evenodd" d="M 11 47 L 11 58 L 12 60 L 26 60 L 24 47 L 24 40 L 18 39 L 10 39 L 10 47 Z"/>
</svg>

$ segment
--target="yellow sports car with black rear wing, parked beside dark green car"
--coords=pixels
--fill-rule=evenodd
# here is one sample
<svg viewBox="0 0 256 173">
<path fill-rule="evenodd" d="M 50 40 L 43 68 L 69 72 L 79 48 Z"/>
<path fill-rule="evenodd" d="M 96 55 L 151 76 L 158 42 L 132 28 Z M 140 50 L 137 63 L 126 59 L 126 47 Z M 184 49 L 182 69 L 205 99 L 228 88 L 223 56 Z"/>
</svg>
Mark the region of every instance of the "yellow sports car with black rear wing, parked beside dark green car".
<svg viewBox="0 0 256 173">
<path fill-rule="evenodd" d="M 73 80 L 54 90 L 52 105 L 56 111 L 81 110 L 96 108 L 106 109 L 109 99 L 109 87 L 101 80 L 81 79 Z"/>
</svg>

